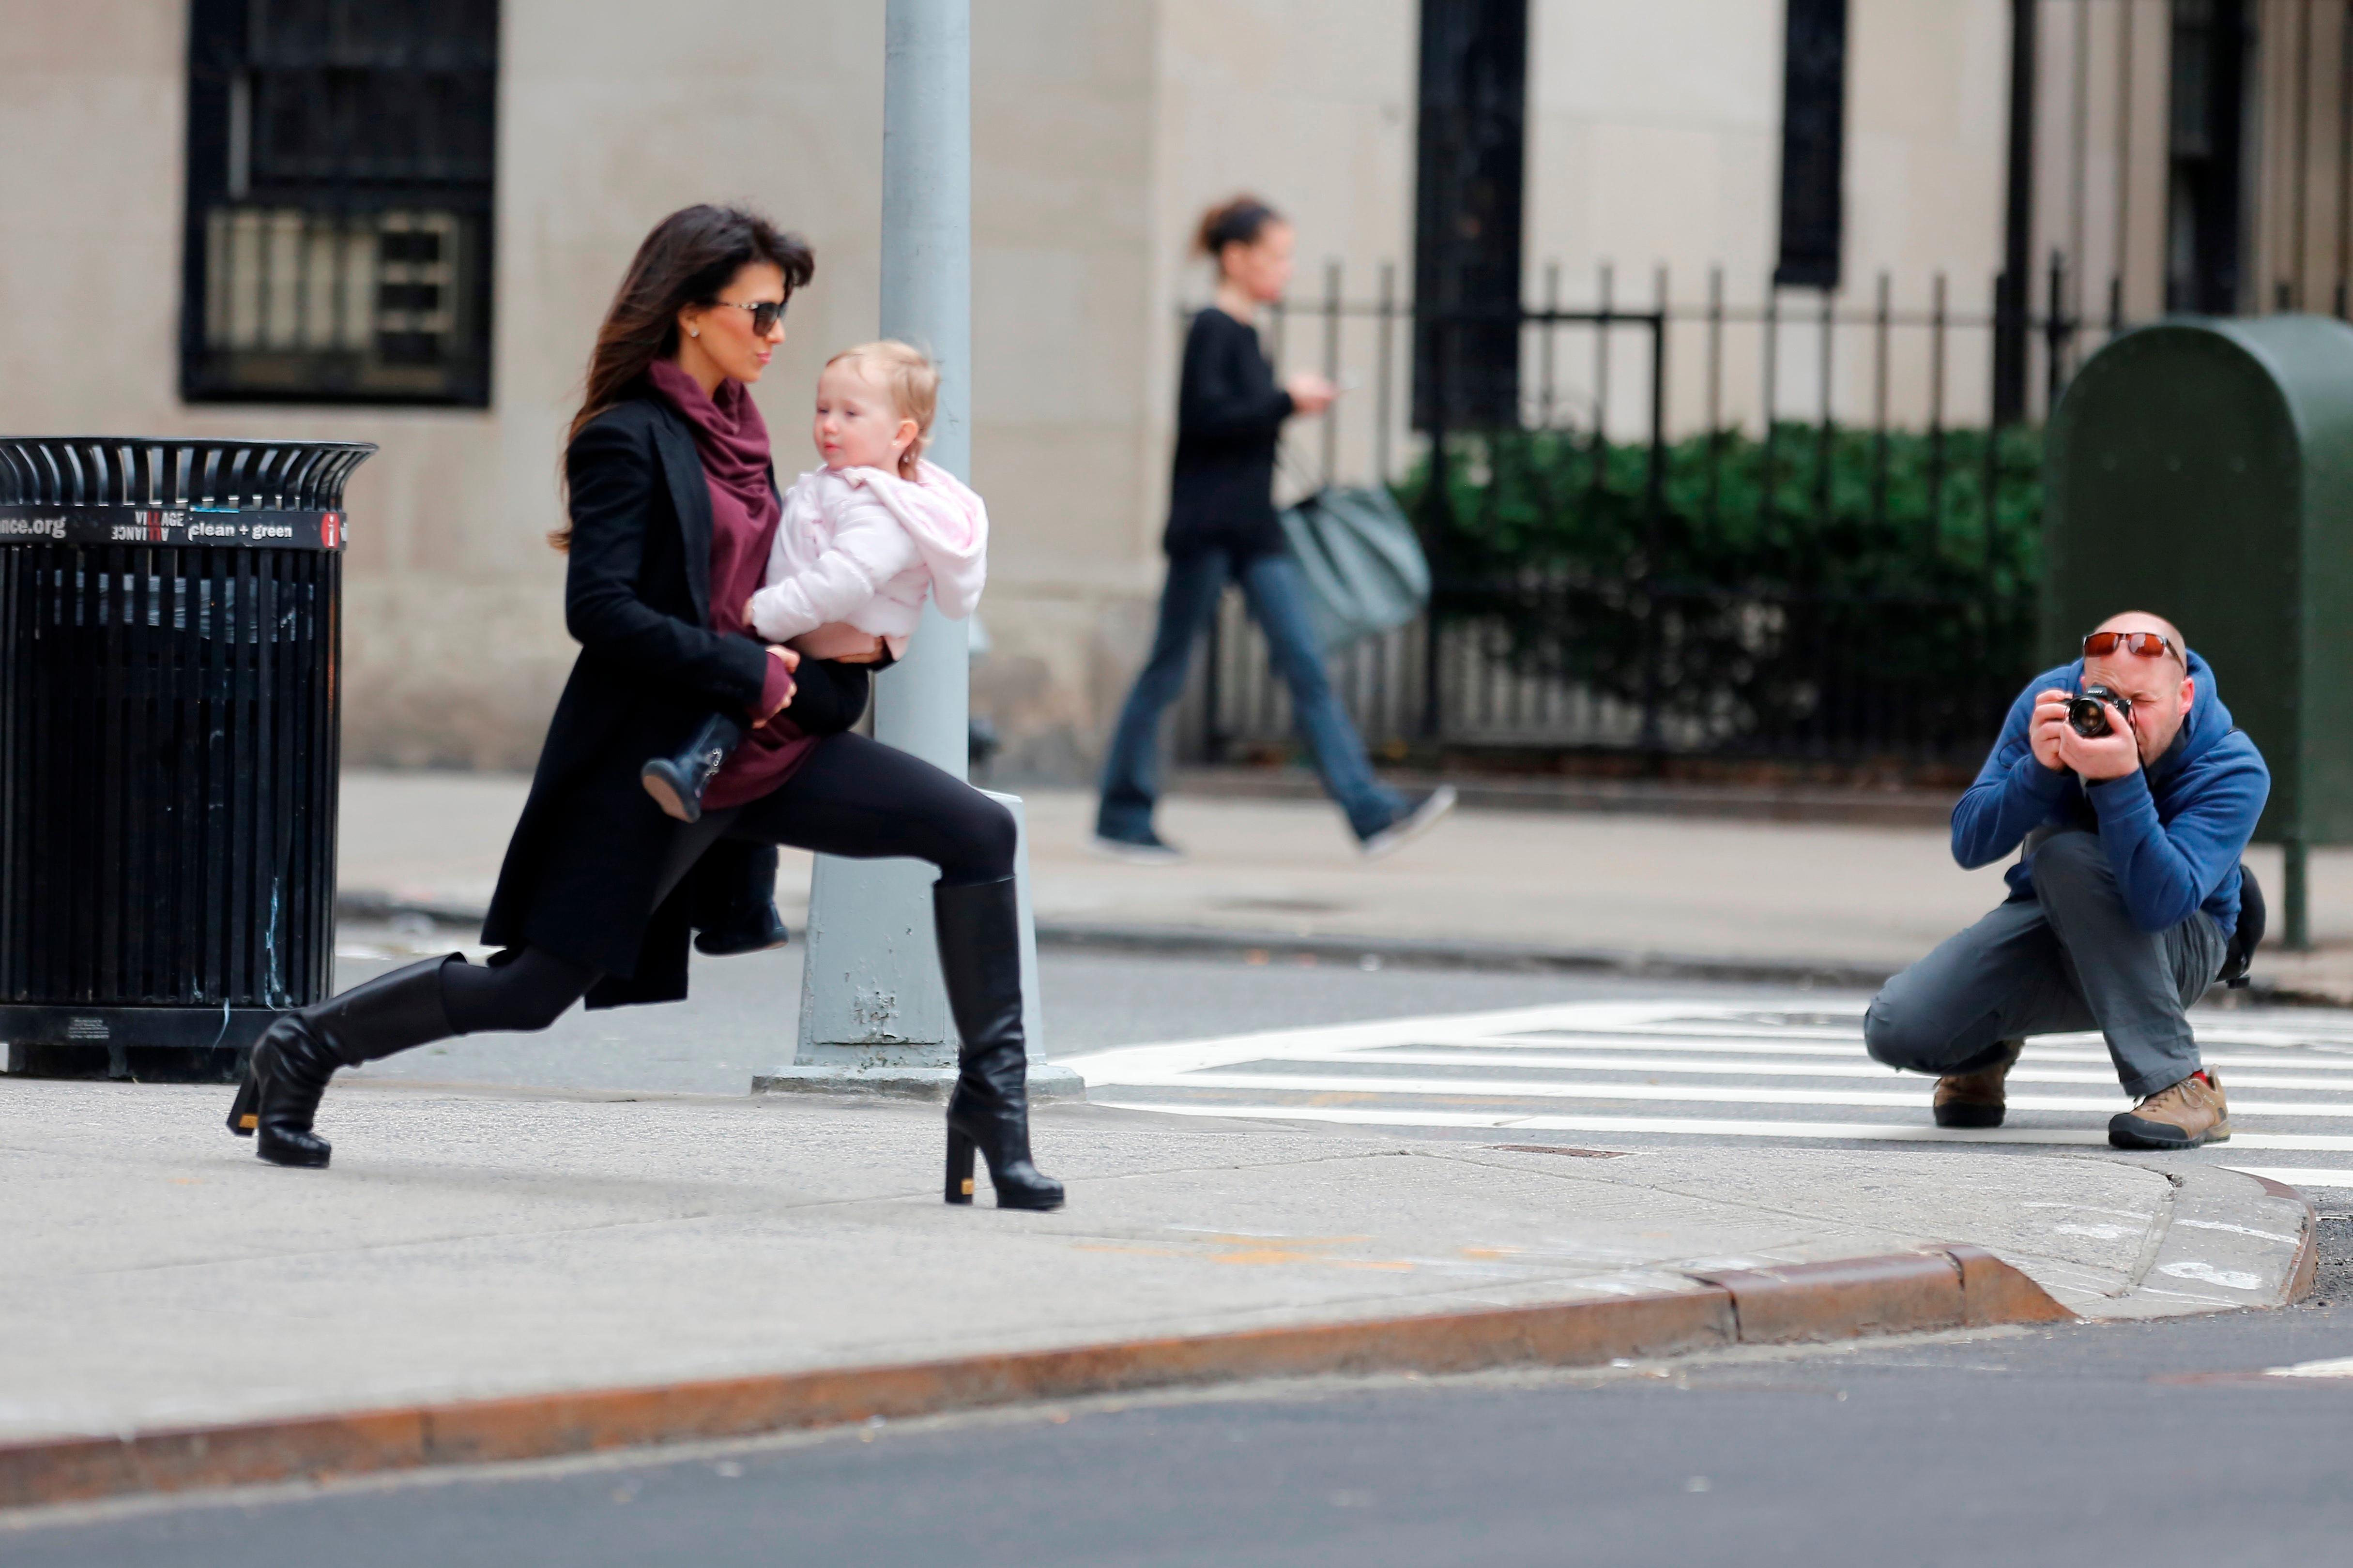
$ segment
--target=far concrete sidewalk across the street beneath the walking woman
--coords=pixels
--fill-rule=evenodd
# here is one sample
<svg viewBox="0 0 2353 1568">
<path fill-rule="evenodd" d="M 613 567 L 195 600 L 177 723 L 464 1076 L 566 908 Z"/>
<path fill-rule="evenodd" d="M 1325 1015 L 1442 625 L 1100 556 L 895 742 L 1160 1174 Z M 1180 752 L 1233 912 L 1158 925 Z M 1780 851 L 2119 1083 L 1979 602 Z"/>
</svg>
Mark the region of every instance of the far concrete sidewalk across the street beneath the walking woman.
<svg viewBox="0 0 2353 1568">
<path fill-rule="evenodd" d="M 525 780 L 346 773 L 346 900 L 478 912 Z M 1398 952 L 1817 976 L 1868 985 L 2002 898 L 1941 827 L 1464 809 L 1365 863 L 1322 802 L 1176 795 L 1162 832 L 1191 860 L 1132 867 L 1087 851 L 1094 797 L 1026 797 L 1040 936 L 1096 943 L 1299 943 Z M 2278 910 L 2280 856 L 2249 856 Z M 807 856 L 776 896 L 798 929 Z M 2273 914 L 2278 919 L 2278 914 Z M 2353 851 L 2313 853 L 2311 954 L 2266 947 L 2259 983 L 2353 1004 Z"/>
</svg>

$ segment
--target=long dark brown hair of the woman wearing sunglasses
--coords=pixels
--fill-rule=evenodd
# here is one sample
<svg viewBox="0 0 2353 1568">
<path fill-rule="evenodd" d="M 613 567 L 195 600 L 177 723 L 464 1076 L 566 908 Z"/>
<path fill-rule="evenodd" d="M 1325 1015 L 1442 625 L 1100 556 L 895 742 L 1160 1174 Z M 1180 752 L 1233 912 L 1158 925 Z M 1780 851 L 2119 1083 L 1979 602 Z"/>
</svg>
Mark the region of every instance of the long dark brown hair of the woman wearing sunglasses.
<svg viewBox="0 0 2353 1568">
<path fill-rule="evenodd" d="M 569 447 L 591 418 L 621 402 L 654 360 L 678 355 L 680 310 L 715 301 L 720 289 L 753 261 L 767 261 L 784 273 L 786 299 L 816 275 L 807 240 L 741 207 L 682 207 L 654 223 L 654 233 L 638 247 L 605 310 L 605 324 L 598 327 L 581 411 L 572 416 L 565 444 Z M 569 550 L 572 524 L 565 522 L 548 534 L 548 543 Z"/>
</svg>

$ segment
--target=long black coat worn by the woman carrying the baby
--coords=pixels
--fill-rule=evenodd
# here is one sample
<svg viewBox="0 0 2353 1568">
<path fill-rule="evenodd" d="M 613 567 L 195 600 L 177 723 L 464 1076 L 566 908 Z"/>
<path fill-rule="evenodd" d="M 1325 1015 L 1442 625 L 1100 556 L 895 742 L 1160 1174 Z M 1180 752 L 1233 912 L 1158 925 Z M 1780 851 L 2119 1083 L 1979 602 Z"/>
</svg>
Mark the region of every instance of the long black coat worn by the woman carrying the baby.
<svg viewBox="0 0 2353 1568">
<path fill-rule="evenodd" d="M 638 783 L 711 712 L 760 701 L 767 651 L 711 630 L 711 489 L 687 421 L 652 388 L 598 414 L 565 454 L 565 625 L 581 654 L 482 922 L 605 980 L 588 1006 L 687 994 L 689 889 L 652 910 L 678 823 Z M 774 484 L 774 475 L 769 475 Z"/>
</svg>

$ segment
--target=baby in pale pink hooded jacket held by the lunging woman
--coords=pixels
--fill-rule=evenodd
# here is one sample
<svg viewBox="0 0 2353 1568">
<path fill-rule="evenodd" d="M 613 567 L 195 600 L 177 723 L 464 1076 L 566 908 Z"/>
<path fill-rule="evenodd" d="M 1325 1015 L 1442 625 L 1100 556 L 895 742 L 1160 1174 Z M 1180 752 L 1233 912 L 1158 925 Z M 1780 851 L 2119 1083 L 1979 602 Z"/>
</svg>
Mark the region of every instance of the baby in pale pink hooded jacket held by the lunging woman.
<svg viewBox="0 0 2353 1568">
<path fill-rule="evenodd" d="M 816 378 L 816 454 L 824 468 L 784 494 L 767 576 L 746 623 L 800 654 L 793 701 L 779 715 L 805 733 L 849 729 L 866 708 L 866 672 L 906 651 L 922 597 L 962 621 L 981 602 L 988 508 L 936 463 L 922 461 L 939 409 L 939 369 L 908 343 L 845 348 Z M 849 703 L 856 712 L 849 712 Z M 744 729 L 713 715 L 675 757 L 640 771 L 647 795 L 682 823 L 704 813 L 704 790 Z"/>
</svg>

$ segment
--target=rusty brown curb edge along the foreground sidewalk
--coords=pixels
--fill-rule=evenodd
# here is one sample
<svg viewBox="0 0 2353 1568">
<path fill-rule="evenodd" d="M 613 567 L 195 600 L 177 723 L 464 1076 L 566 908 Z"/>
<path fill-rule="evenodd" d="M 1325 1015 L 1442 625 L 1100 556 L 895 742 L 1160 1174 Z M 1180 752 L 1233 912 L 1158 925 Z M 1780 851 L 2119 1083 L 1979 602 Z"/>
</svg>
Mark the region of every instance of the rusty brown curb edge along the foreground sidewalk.
<svg viewBox="0 0 2353 1568">
<path fill-rule="evenodd" d="M 0 1446 L 0 1509 L 546 1460 L 1249 1378 L 1600 1366 L 1729 1345 L 2075 1321 L 2014 1265 L 1960 1244 L 1687 1279 L 1680 1291 L 1539 1307 L 9 1443 Z"/>
</svg>

